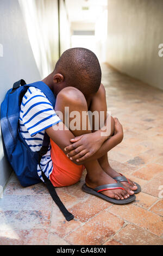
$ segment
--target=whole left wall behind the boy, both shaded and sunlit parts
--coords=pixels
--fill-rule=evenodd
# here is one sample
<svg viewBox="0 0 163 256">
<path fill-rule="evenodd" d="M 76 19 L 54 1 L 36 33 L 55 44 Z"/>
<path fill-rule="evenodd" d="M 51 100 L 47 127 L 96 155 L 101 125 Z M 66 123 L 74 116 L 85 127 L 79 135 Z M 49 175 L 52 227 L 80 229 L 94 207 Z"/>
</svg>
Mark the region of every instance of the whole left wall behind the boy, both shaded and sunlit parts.
<svg viewBox="0 0 163 256">
<path fill-rule="evenodd" d="M 59 58 L 57 0 L 0 1 L 0 103 L 12 84 L 41 80 Z M 3 52 L 2 52 L 3 48 Z M 0 185 L 11 170 L 0 138 Z"/>
</svg>

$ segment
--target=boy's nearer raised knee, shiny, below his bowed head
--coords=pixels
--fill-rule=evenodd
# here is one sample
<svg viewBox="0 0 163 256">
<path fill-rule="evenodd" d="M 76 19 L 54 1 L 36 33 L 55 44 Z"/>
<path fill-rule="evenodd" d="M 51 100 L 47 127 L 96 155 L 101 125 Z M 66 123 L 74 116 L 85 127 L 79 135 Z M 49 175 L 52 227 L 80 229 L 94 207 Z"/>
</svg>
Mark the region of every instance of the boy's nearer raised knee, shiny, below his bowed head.
<svg viewBox="0 0 163 256">
<path fill-rule="evenodd" d="M 73 104 L 78 106 L 87 106 L 84 94 L 75 87 L 66 87 L 62 89 L 57 95 L 58 100 L 64 102 L 64 104 Z"/>
</svg>

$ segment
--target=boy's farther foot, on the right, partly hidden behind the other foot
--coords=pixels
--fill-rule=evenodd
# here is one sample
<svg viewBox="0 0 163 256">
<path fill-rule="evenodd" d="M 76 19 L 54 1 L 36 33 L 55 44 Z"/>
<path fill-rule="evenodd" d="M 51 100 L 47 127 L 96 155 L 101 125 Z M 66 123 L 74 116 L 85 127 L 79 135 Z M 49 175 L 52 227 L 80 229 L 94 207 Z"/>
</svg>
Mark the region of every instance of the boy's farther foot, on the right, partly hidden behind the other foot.
<svg viewBox="0 0 163 256">
<path fill-rule="evenodd" d="M 104 167 L 102 166 L 103 170 L 105 171 L 105 173 L 107 173 L 109 176 L 111 176 L 111 178 L 116 178 L 117 176 L 121 176 L 120 173 L 117 173 L 116 170 L 112 169 L 111 167 Z M 132 196 L 134 194 L 134 191 L 137 190 L 137 186 L 136 184 L 131 181 L 130 179 L 128 179 L 129 182 L 127 181 L 121 181 L 124 188 L 126 189 L 126 191 L 130 194 L 130 196 Z"/>
</svg>

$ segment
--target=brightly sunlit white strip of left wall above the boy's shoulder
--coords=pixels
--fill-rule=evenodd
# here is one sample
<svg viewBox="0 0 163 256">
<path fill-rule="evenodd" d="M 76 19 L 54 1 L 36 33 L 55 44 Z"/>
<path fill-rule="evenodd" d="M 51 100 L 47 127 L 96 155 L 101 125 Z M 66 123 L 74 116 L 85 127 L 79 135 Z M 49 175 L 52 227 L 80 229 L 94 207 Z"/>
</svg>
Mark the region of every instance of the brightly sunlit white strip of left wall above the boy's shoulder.
<svg viewBox="0 0 163 256">
<path fill-rule="evenodd" d="M 46 77 L 52 72 L 59 58 L 58 1 L 18 0 L 18 2 L 37 68 L 41 77 Z"/>
</svg>

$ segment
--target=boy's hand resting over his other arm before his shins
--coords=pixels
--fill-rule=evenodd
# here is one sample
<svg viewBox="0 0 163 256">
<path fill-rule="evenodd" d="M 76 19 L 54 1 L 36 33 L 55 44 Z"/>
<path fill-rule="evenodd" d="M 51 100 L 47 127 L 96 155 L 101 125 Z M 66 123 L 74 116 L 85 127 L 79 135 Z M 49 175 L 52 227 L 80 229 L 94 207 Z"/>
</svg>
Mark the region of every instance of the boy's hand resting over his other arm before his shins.
<svg viewBox="0 0 163 256">
<path fill-rule="evenodd" d="M 70 160 L 76 160 L 77 162 L 80 162 L 95 154 L 99 148 L 101 148 L 104 139 L 97 131 L 78 136 L 74 139 L 71 139 L 71 142 L 73 144 L 65 148 L 67 156 L 70 157 Z"/>
</svg>

